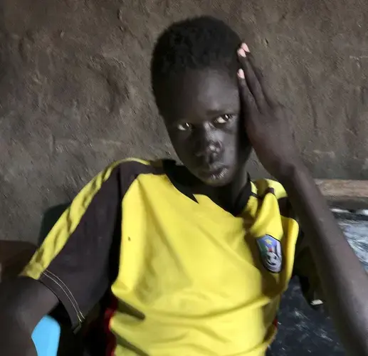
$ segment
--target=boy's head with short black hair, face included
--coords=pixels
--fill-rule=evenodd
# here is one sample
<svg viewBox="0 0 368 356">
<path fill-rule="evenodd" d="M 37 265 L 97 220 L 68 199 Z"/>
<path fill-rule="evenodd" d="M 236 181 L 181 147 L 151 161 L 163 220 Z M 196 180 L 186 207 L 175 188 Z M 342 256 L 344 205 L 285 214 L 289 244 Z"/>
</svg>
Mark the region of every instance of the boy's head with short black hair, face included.
<svg viewBox="0 0 368 356">
<path fill-rule="evenodd" d="M 152 89 L 172 145 L 206 184 L 223 186 L 251 147 L 243 129 L 236 72 L 238 35 L 209 16 L 169 26 L 152 56 Z"/>
</svg>

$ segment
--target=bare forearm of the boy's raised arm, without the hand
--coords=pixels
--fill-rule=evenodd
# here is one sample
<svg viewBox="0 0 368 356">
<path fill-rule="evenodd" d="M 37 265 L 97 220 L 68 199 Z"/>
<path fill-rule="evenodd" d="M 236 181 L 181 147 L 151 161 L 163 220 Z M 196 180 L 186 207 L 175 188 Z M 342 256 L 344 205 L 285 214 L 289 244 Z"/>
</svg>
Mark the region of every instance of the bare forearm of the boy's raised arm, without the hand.
<svg viewBox="0 0 368 356">
<path fill-rule="evenodd" d="M 368 276 L 303 164 L 280 178 L 310 243 L 325 299 L 351 355 L 368 355 Z"/>
</svg>

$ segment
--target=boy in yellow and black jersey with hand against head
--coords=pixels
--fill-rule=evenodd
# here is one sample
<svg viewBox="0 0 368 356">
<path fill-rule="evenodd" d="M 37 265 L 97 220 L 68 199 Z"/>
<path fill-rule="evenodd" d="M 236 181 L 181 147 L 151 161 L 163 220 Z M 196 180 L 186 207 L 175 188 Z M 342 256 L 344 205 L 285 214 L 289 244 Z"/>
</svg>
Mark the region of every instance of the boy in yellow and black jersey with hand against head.
<svg viewBox="0 0 368 356">
<path fill-rule="evenodd" d="M 248 47 L 210 17 L 174 23 L 152 89 L 184 165 L 127 159 L 82 189 L 0 288 L 0 354 L 34 355 L 31 332 L 57 305 L 78 329 L 101 303 L 90 355 L 265 355 L 296 274 L 312 304 L 323 292 L 347 350 L 368 355 L 366 273 Z M 278 182 L 251 181 L 252 147 Z"/>
</svg>

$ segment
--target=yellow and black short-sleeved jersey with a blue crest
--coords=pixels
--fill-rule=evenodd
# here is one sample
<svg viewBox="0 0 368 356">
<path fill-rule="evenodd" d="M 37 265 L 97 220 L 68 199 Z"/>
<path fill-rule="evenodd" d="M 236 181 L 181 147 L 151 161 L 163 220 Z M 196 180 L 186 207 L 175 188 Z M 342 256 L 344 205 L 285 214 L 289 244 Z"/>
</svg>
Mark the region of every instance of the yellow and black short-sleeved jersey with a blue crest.
<svg viewBox="0 0 368 356">
<path fill-rule="evenodd" d="M 102 300 L 94 355 L 261 356 L 272 342 L 297 271 L 286 192 L 248 179 L 225 211 L 193 182 L 170 160 L 111 164 L 24 269 L 58 296 L 73 327 Z M 302 259 L 310 293 L 316 275 Z"/>
</svg>

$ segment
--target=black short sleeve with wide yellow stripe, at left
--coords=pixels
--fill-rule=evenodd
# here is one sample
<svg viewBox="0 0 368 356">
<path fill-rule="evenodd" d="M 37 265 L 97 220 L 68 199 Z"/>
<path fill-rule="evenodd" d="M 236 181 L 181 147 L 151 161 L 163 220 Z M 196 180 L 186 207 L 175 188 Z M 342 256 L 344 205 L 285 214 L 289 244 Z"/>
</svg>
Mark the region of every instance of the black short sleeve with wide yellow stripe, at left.
<svg viewBox="0 0 368 356">
<path fill-rule="evenodd" d="M 121 201 L 121 165 L 116 163 L 80 191 L 21 273 L 56 294 L 73 328 L 83 323 L 111 283 L 110 256 L 112 242 L 120 239 Z"/>
</svg>

